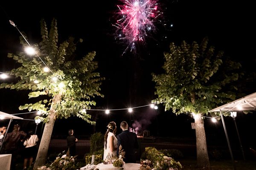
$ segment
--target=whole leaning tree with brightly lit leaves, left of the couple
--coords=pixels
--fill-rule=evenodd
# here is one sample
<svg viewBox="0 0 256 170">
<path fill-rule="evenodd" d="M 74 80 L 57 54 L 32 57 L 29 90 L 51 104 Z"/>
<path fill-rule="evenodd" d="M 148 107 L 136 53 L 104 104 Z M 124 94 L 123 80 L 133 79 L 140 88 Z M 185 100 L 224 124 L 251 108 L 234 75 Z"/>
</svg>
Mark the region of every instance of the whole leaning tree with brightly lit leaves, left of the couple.
<svg viewBox="0 0 256 170">
<path fill-rule="evenodd" d="M 90 52 L 84 57 L 75 60 L 76 43 L 74 38 L 58 43 L 57 22 L 52 20 L 48 34 L 47 25 L 41 21 L 42 40 L 34 47 L 41 57 L 29 57 L 23 52 L 8 54 L 20 64 L 20 67 L 13 69 L 9 74 L 17 77 L 16 83 L 3 83 L 0 88 L 16 90 L 29 90 L 29 98 L 38 97 L 38 102 L 25 104 L 19 109 L 29 111 L 38 110 L 44 113 L 44 133 L 35 161 L 35 167 L 43 165 L 47 158 L 47 151 L 52 135 L 52 129 L 56 119 L 70 116 L 78 116 L 90 124 L 90 115 L 83 109 L 90 109 L 96 105 L 92 100 L 94 96 L 102 96 L 99 93 L 100 85 L 104 78 L 95 72 L 98 63 L 93 61 L 96 53 Z M 28 45 L 21 38 L 23 47 Z M 82 40 L 80 39 L 80 42 Z M 50 69 L 44 71 L 44 63 Z M 49 107 L 49 109 L 48 109 Z M 42 119 L 42 118 L 40 118 Z"/>
</svg>

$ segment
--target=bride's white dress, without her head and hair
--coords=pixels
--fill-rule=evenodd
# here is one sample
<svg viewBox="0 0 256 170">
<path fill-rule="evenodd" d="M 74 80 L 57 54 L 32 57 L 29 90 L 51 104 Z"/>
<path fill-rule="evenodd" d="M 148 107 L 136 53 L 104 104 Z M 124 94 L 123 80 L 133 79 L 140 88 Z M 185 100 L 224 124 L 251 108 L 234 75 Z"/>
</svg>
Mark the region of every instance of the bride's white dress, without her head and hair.
<svg viewBox="0 0 256 170">
<path fill-rule="evenodd" d="M 114 138 L 114 147 L 117 147 L 117 139 L 116 136 L 114 135 L 114 133 L 109 132 L 108 133 L 108 138 L 107 138 L 107 148 L 105 147 L 105 143 L 104 143 L 104 156 L 103 156 L 103 160 L 105 161 L 106 159 L 111 159 L 113 156 L 116 156 L 116 150 L 113 150 L 113 152 L 110 150 L 110 145 L 108 141 L 110 141 L 111 139 Z"/>
</svg>

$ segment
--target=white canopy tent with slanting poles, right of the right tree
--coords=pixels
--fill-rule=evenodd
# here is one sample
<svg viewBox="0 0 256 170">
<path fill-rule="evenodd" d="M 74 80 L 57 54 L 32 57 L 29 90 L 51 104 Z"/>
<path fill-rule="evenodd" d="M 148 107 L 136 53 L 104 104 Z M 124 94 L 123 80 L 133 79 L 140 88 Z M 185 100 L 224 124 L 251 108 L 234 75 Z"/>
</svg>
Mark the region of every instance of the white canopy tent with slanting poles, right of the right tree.
<svg viewBox="0 0 256 170">
<path fill-rule="evenodd" d="M 237 99 L 233 102 L 230 102 L 230 103 L 227 103 L 225 105 L 219 106 L 218 108 L 215 108 L 215 109 L 212 109 L 212 110 L 209 111 L 209 112 L 220 112 L 222 124 L 223 124 L 225 135 L 226 135 L 226 138 L 227 138 L 227 144 L 228 144 L 228 147 L 229 147 L 229 150 L 230 150 L 230 156 L 231 156 L 231 159 L 233 161 L 234 169 L 236 169 L 235 164 L 234 164 L 233 153 L 232 153 L 232 150 L 231 150 L 231 147 L 230 147 L 229 138 L 227 136 L 227 130 L 226 130 L 225 122 L 224 122 L 224 119 L 223 119 L 222 111 L 225 111 L 225 112 L 256 111 L 256 92 L 253 93 L 253 94 L 249 94 L 247 96 L 244 96 L 240 99 Z M 234 121 L 235 121 L 235 119 L 234 119 Z M 236 121 L 235 121 L 235 125 L 236 125 Z M 237 130 L 237 126 L 236 126 L 236 130 Z M 238 130 L 237 130 L 237 134 L 238 134 L 238 137 L 239 137 Z M 243 150 L 243 147 L 241 145 L 240 137 L 239 137 L 239 142 L 240 142 L 241 150 L 242 150 L 243 157 L 244 157 L 244 150 Z M 245 158 L 244 158 L 244 160 L 245 160 Z"/>
</svg>

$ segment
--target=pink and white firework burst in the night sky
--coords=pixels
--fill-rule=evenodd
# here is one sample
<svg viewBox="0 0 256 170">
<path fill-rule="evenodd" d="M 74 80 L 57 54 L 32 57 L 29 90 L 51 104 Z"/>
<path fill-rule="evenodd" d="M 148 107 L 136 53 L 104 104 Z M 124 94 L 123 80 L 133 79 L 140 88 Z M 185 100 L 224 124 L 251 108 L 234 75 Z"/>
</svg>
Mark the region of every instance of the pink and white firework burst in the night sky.
<svg viewBox="0 0 256 170">
<path fill-rule="evenodd" d="M 157 0 L 120 1 L 123 5 L 117 7 L 121 18 L 113 26 L 119 29 L 119 38 L 126 39 L 132 50 L 134 42 L 144 41 L 147 33 L 154 30 L 154 21 L 162 13 L 158 10 Z"/>
</svg>

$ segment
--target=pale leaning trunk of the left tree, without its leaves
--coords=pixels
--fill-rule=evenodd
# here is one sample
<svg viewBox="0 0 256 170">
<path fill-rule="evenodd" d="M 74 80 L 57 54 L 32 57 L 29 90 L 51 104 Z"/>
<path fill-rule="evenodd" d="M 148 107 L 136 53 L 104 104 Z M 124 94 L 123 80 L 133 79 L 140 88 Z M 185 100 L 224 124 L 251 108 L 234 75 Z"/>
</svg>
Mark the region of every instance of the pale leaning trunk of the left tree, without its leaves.
<svg viewBox="0 0 256 170">
<path fill-rule="evenodd" d="M 60 103 L 60 101 L 61 101 L 61 93 L 55 95 L 52 99 L 52 105 L 51 105 L 49 115 L 48 115 L 49 122 L 47 122 L 44 126 L 44 132 L 43 132 L 43 136 L 42 136 L 40 146 L 38 149 L 38 154 L 35 159 L 34 168 L 43 166 L 45 164 L 45 161 L 47 158 L 47 152 L 48 152 L 48 148 L 49 148 L 49 143 L 50 143 L 51 136 L 52 136 L 53 125 L 54 125 L 54 122 L 56 119 L 55 118 L 56 111 L 55 111 L 55 108 L 53 108 L 53 105 Z"/>
</svg>

